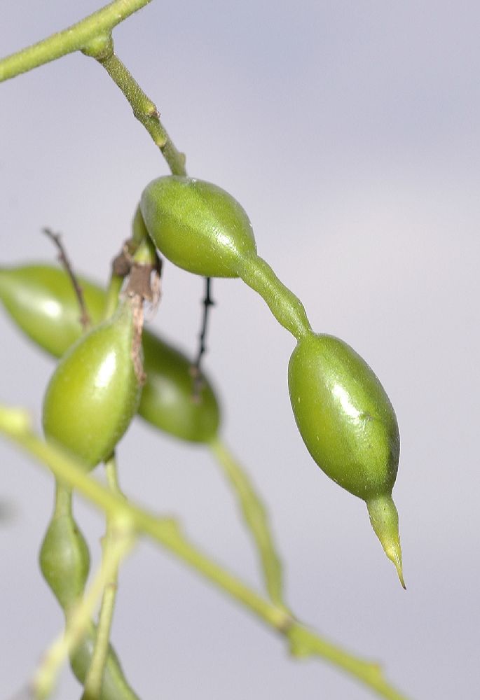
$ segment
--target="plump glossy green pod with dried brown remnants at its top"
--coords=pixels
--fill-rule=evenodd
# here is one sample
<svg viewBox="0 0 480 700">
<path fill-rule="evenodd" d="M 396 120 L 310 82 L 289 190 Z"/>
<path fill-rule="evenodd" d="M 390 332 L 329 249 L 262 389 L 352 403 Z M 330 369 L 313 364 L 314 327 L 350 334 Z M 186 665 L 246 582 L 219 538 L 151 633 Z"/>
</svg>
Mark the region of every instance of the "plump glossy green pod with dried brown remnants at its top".
<svg viewBox="0 0 480 700">
<path fill-rule="evenodd" d="M 137 412 L 142 389 L 132 335 L 132 312 L 123 302 L 62 357 L 43 399 L 46 437 L 90 468 L 111 455 Z"/>
</svg>

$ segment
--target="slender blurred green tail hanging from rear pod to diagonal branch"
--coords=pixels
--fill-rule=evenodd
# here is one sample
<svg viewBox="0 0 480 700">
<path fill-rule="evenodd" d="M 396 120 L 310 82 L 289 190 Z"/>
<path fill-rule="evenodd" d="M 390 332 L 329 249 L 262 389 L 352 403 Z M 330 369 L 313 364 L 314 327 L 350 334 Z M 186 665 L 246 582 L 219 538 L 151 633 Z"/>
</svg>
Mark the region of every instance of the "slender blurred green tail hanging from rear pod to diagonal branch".
<svg viewBox="0 0 480 700">
<path fill-rule="evenodd" d="M 210 449 L 235 493 L 243 519 L 256 544 L 268 596 L 275 605 L 287 610 L 283 596 L 282 564 L 273 542 L 265 506 L 247 473 L 219 437 L 210 442 Z"/>
</svg>

